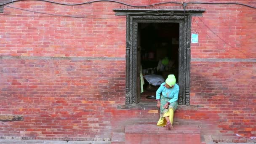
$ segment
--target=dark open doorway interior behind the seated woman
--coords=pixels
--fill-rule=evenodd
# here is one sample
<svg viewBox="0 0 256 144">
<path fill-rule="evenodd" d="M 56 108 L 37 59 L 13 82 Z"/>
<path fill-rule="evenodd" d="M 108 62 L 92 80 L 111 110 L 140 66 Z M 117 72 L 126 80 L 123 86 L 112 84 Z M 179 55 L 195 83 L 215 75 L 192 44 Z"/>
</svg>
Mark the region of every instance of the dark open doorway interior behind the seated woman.
<svg viewBox="0 0 256 144">
<path fill-rule="evenodd" d="M 179 79 L 179 23 L 138 23 L 138 83 L 141 102 L 150 102 L 168 75 Z M 140 84 L 144 85 L 140 85 Z M 154 98 L 154 97 L 150 97 Z"/>
</svg>

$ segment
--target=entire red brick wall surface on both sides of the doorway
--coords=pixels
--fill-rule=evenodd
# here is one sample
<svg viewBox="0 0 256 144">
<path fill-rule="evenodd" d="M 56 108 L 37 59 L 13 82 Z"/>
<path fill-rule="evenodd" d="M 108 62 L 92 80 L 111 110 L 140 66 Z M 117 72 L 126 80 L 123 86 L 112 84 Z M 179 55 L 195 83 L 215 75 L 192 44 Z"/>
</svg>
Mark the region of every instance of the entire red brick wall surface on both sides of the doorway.
<svg viewBox="0 0 256 144">
<path fill-rule="evenodd" d="M 166 1 L 121 2 L 149 5 Z M 253 0 L 221 2 L 256 6 Z M 111 132 L 123 132 L 125 124 L 157 122 L 159 114 L 154 109 L 117 109 L 125 103 L 126 19 L 115 16 L 112 9 L 120 6 L 110 2 L 65 6 L 20 1 L 4 7 L 0 13 L 0 56 L 24 59 L 0 59 L 0 115 L 24 115 L 24 121 L 0 122 L 0 136 L 110 138 Z M 199 43 L 191 44 L 190 104 L 198 107 L 178 109 L 174 121 L 200 125 L 202 133 L 214 139 L 253 139 L 255 62 L 193 59 L 256 59 L 256 9 L 190 6 L 206 9 L 203 16 L 192 17 L 192 33 L 199 35 Z M 30 59 L 34 56 L 123 60 Z"/>
</svg>

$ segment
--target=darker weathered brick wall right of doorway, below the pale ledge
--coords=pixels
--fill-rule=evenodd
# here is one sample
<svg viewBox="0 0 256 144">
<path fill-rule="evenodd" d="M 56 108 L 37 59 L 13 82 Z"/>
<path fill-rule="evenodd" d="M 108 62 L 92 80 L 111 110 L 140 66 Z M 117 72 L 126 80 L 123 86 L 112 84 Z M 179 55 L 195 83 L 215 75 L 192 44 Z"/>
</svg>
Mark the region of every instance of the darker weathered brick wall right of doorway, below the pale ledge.
<svg viewBox="0 0 256 144">
<path fill-rule="evenodd" d="M 190 98 L 192 104 L 203 107 L 183 117 L 210 120 L 210 128 L 219 129 L 220 135 L 255 136 L 255 62 L 197 61 L 191 67 Z M 207 126 L 202 130 L 212 129 Z"/>
</svg>

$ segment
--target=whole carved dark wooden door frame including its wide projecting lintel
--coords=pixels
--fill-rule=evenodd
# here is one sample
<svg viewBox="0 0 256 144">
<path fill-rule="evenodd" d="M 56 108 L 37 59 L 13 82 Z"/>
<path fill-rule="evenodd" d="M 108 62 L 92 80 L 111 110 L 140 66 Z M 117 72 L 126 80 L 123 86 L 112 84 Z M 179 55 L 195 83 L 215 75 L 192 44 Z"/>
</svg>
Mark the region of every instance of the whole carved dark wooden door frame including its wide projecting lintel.
<svg viewBox="0 0 256 144">
<path fill-rule="evenodd" d="M 190 100 L 190 35 L 192 16 L 202 16 L 200 7 L 166 9 L 113 9 L 116 16 L 126 16 L 126 90 L 125 105 L 137 104 L 137 34 L 138 23 L 179 23 L 179 104 Z"/>
</svg>

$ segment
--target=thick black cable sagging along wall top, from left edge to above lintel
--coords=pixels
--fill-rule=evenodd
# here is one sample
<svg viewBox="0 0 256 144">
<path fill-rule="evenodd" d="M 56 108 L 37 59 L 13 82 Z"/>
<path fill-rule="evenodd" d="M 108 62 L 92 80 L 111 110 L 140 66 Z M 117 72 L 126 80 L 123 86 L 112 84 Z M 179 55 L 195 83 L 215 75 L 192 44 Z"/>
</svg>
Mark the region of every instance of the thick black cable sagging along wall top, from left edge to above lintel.
<svg viewBox="0 0 256 144">
<path fill-rule="evenodd" d="M 26 1 L 26 0 L 13 0 L 11 2 L 1 4 L 0 6 L 6 5 L 6 4 L 9 4 L 9 3 L 13 3 L 13 2 L 18 2 L 18 1 Z M 120 3 L 120 4 L 123 4 L 123 5 L 127 5 L 127 6 L 132 6 L 132 7 L 149 7 L 149 6 L 153 6 L 153 5 L 160 5 L 160 4 L 166 4 L 166 3 L 181 4 L 181 3 L 178 3 L 178 2 L 163 2 L 163 3 L 155 3 L 155 4 L 152 4 L 152 5 L 129 5 L 127 3 L 122 3 L 122 2 L 115 1 L 115 0 L 94 0 L 94 1 L 90 1 L 90 2 L 76 3 L 76 4 L 58 3 L 58 2 L 53 2 L 53 1 L 50 1 L 50 0 L 38 0 L 38 1 L 43 1 L 43 2 L 48 2 L 48 3 L 55 3 L 55 4 L 59 4 L 59 5 L 84 5 L 84 4 L 90 4 L 90 3 L 96 3 L 96 2 L 113 2 L 113 3 Z"/>
</svg>

